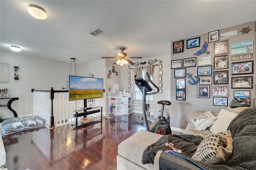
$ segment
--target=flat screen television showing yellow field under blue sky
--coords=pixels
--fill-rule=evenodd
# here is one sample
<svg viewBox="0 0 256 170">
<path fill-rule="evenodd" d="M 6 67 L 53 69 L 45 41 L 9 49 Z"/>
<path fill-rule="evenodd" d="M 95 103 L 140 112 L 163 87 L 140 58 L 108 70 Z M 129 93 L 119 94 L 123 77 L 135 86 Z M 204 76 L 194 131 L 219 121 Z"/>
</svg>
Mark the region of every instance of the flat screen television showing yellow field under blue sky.
<svg viewBox="0 0 256 170">
<path fill-rule="evenodd" d="M 101 97 L 103 97 L 103 79 L 73 75 L 69 76 L 70 101 Z"/>
</svg>

